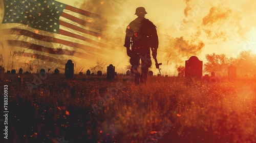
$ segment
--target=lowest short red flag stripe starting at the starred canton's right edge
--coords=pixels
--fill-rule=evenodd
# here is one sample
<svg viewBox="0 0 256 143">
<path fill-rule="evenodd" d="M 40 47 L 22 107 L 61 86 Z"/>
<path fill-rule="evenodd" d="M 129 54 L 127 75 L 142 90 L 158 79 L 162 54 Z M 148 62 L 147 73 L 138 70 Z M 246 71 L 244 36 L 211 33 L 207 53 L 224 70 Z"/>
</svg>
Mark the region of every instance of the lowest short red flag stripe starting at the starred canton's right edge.
<svg viewBox="0 0 256 143">
<path fill-rule="evenodd" d="M 59 29 L 59 34 L 66 35 L 66 36 L 69 36 L 69 37 L 74 37 L 76 39 L 80 39 L 80 40 L 83 40 L 83 41 L 87 41 L 89 43 L 92 43 L 94 45 L 101 46 L 101 47 L 108 46 L 106 44 L 97 42 L 95 40 L 92 40 L 92 39 L 89 39 L 89 38 L 86 38 L 86 37 L 83 37 L 83 36 L 80 36 L 80 35 L 77 35 L 77 34 L 74 34 L 74 33 L 71 33 L 71 32 L 65 31 L 65 30 L 62 30 L 62 29 Z"/>
</svg>

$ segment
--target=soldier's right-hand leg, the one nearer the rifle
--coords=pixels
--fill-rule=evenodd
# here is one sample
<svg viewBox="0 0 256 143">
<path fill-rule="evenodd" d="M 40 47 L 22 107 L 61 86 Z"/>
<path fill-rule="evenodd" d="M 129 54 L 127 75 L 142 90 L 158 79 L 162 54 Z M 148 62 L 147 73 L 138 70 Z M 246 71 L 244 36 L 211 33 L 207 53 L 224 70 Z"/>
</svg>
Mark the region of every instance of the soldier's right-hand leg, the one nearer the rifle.
<svg viewBox="0 0 256 143">
<path fill-rule="evenodd" d="M 152 65 L 152 61 L 149 55 L 145 55 L 141 57 L 141 76 L 140 76 L 140 83 L 146 83 L 147 76 L 148 76 L 148 68 Z"/>
</svg>

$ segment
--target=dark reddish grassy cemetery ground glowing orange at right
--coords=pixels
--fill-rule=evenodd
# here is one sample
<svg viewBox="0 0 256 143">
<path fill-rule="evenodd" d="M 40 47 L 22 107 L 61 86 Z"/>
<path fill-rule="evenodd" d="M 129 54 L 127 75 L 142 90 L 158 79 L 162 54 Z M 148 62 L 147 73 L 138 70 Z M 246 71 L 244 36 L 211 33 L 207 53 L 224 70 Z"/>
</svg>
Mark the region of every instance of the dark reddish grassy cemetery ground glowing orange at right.
<svg viewBox="0 0 256 143">
<path fill-rule="evenodd" d="M 201 85 L 149 77 L 135 86 L 121 75 L 110 82 L 104 75 L 60 74 L 30 91 L 35 76 L 22 75 L 22 85 L 17 76 L 1 79 L 9 116 L 8 139 L 2 134 L 0 142 L 256 142 L 253 78 Z"/>
</svg>

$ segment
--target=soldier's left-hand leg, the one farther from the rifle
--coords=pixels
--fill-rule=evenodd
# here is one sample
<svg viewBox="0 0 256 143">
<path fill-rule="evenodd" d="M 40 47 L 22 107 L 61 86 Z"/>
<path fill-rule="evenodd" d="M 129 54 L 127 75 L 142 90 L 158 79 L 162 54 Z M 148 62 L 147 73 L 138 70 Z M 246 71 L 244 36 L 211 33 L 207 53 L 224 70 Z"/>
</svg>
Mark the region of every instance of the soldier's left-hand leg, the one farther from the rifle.
<svg viewBox="0 0 256 143">
<path fill-rule="evenodd" d="M 140 73 L 138 71 L 139 68 L 139 62 L 140 62 L 140 57 L 137 54 L 133 54 L 130 59 L 130 63 L 132 65 L 131 68 L 131 75 L 135 77 L 135 84 L 140 83 Z"/>
</svg>

